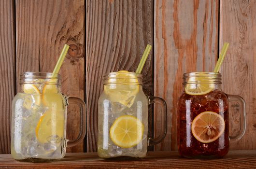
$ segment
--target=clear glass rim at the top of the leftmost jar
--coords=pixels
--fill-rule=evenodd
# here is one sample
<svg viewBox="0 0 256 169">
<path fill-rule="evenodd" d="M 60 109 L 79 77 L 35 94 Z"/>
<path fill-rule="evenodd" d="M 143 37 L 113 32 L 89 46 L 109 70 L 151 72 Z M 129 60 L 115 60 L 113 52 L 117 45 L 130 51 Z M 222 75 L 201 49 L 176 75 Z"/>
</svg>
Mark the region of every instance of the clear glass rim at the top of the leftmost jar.
<svg viewBox="0 0 256 169">
<path fill-rule="evenodd" d="M 43 72 L 43 71 L 25 71 L 21 73 L 20 78 L 33 78 L 33 79 L 61 79 L 60 74 L 52 72 Z"/>
</svg>

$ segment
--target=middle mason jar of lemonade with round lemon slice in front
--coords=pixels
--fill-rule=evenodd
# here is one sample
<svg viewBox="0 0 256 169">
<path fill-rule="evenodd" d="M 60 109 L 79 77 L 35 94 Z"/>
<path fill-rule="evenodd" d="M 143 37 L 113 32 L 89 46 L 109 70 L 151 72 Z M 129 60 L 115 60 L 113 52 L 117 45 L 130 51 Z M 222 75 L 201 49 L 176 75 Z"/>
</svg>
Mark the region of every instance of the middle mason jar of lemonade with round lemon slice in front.
<svg viewBox="0 0 256 169">
<path fill-rule="evenodd" d="M 98 102 L 98 155 L 102 158 L 142 158 L 147 146 L 166 135 L 166 103 L 147 97 L 142 91 L 142 74 L 125 70 L 104 76 L 104 90 Z M 162 133 L 148 138 L 148 105 L 163 106 Z"/>
</svg>

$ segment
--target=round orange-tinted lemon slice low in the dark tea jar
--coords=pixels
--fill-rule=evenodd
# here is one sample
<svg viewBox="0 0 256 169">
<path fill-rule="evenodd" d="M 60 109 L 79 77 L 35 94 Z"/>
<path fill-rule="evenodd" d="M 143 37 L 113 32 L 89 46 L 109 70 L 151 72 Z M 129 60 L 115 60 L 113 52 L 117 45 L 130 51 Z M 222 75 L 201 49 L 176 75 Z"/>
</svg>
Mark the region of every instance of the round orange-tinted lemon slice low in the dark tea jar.
<svg viewBox="0 0 256 169">
<path fill-rule="evenodd" d="M 215 112 L 203 112 L 196 116 L 191 125 L 193 136 L 200 142 L 217 140 L 225 130 L 225 121 Z"/>
</svg>

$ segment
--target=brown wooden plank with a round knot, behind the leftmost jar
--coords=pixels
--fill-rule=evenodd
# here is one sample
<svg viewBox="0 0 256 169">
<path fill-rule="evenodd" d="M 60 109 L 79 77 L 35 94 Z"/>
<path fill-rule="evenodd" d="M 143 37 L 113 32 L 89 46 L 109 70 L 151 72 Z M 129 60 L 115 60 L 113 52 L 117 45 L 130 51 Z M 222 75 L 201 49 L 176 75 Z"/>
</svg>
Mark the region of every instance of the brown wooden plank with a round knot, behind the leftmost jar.
<svg viewBox="0 0 256 169">
<path fill-rule="evenodd" d="M 70 49 L 59 72 L 62 92 L 84 99 L 84 3 L 84 0 L 16 0 L 17 75 L 23 71 L 52 72 L 67 43 Z M 70 105 L 67 117 L 70 140 L 79 133 L 79 115 L 78 108 Z M 68 151 L 84 152 L 84 143 Z"/>
</svg>

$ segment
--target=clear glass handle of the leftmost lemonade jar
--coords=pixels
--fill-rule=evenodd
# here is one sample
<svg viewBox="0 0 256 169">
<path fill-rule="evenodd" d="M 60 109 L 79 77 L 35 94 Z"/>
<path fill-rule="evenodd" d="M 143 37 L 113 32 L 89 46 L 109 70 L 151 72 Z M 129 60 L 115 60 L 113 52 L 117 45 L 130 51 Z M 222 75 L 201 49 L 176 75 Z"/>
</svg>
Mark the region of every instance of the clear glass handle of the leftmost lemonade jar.
<svg viewBox="0 0 256 169">
<path fill-rule="evenodd" d="M 75 140 L 67 140 L 66 147 L 73 147 L 85 138 L 86 134 L 86 105 L 82 99 L 68 97 L 67 104 L 76 104 L 80 107 L 80 131 Z"/>
</svg>

